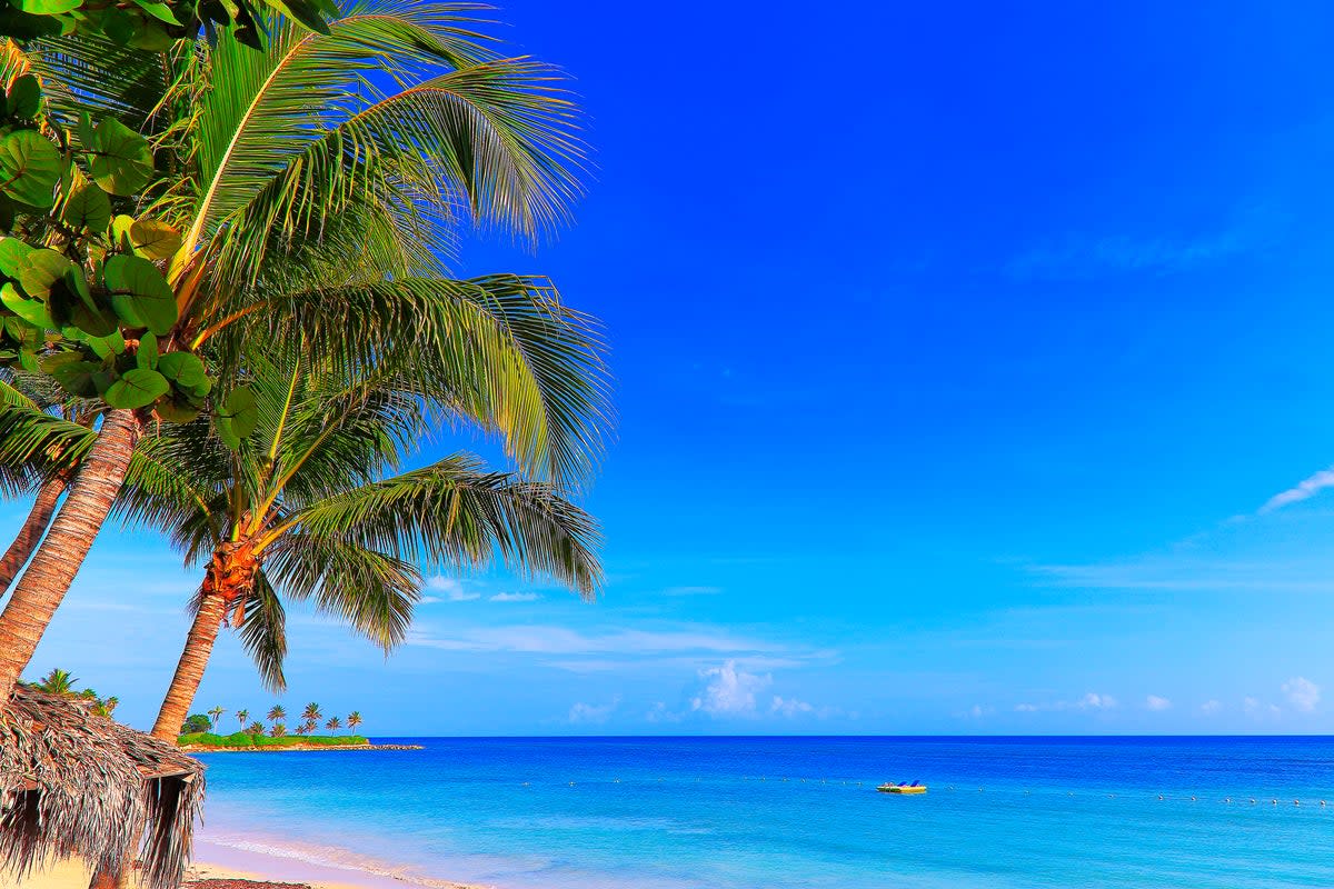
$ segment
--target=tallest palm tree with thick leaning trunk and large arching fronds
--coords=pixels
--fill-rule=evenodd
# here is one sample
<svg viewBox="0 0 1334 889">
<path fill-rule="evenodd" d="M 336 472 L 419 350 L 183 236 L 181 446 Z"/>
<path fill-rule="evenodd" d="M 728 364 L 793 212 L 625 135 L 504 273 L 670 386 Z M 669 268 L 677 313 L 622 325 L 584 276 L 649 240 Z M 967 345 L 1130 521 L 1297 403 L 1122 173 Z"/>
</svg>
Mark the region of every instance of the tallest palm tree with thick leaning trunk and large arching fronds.
<svg viewBox="0 0 1334 889">
<path fill-rule="evenodd" d="M 324 357 L 466 368 L 460 407 L 486 416 L 527 469 L 566 480 L 591 468 L 606 393 L 588 384 L 586 321 L 540 279 L 456 281 L 439 259 L 460 217 L 534 235 L 578 192 L 572 107 L 551 72 L 498 56 L 468 21 L 462 8 L 372 0 L 329 35 L 261 23 L 263 52 L 231 31 L 165 53 L 84 37 L 36 41 L 31 56 L 8 44 L 47 84 L 53 127 L 77 131 L 88 109 L 115 116 L 172 171 L 139 196 L 180 236 L 160 260 L 176 320 L 157 339 L 163 352 L 209 359 L 211 397 L 235 415 L 219 421 L 224 436 L 251 423 L 232 373 L 245 335 L 263 331 Z M 574 384 L 571 365 L 583 372 Z M 175 420 L 196 409 L 153 405 Z M 147 419 L 147 408 L 108 411 L 80 454 L 0 614 L 0 698 L 105 521 Z"/>
</svg>

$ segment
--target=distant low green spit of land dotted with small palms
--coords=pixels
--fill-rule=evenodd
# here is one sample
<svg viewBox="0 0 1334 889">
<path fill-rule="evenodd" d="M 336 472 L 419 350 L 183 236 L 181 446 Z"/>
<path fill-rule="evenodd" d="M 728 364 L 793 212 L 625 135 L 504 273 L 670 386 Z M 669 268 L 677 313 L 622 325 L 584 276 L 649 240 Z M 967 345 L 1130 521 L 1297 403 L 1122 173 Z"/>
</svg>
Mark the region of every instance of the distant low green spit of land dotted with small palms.
<svg viewBox="0 0 1334 889">
<path fill-rule="evenodd" d="M 319 704 L 307 704 L 301 710 L 301 721 L 295 734 L 287 733 L 287 709 L 275 704 L 268 710 L 269 725 L 251 721 L 249 710 L 236 710 L 241 728 L 231 734 L 219 734 L 217 724 L 227 713 L 215 706 L 208 713 L 192 713 L 180 726 L 177 746 L 188 753 L 253 753 L 280 750 L 420 750 L 420 744 L 371 744 L 362 734 L 313 734 L 323 718 Z M 356 730 L 362 714 L 356 710 L 348 714 L 347 726 Z M 332 716 L 324 728 L 336 732 L 343 728 L 343 720 Z"/>
</svg>

